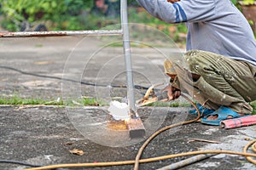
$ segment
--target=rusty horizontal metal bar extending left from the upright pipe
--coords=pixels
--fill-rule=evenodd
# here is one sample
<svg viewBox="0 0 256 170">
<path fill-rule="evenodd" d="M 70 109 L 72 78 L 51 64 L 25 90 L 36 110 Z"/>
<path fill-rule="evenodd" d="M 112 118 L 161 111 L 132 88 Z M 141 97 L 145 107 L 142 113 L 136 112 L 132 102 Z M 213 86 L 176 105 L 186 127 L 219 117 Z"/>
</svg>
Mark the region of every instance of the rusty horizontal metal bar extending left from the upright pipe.
<svg viewBox="0 0 256 170">
<path fill-rule="evenodd" d="M 90 30 L 90 31 L 17 31 L 0 32 L 0 37 L 61 37 L 61 36 L 118 36 L 123 30 Z"/>
</svg>

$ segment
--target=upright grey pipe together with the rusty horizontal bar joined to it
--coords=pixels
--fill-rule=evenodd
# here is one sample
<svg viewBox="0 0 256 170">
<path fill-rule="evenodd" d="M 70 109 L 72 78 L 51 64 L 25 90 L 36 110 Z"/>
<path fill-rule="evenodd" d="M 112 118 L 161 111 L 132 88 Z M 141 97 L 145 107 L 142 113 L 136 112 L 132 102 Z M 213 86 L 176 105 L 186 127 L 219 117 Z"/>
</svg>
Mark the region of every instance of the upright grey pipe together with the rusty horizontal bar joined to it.
<svg viewBox="0 0 256 170">
<path fill-rule="evenodd" d="M 136 113 L 134 84 L 131 67 L 131 47 L 128 28 L 127 0 L 120 1 L 121 30 L 93 30 L 93 31 L 17 31 L 0 32 L 0 37 L 61 37 L 61 36 L 117 36 L 123 35 L 123 48 L 125 54 L 127 96 L 131 113 Z"/>
</svg>

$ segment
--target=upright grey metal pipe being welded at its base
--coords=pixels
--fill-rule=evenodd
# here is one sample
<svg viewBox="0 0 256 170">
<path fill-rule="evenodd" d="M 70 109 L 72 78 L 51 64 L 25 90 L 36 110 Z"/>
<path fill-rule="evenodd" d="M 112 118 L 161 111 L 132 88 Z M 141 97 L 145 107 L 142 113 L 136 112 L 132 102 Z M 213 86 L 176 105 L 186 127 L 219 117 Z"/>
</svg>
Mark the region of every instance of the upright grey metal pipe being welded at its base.
<svg viewBox="0 0 256 170">
<path fill-rule="evenodd" d="M 128 27 L 128 14 L 127 14 L 127 0 L 121 0 L 121 26 L 123 30 L 123 47 L 125 54 L 125 67 L 126 67 L 126 82 L 127 82 L 127 96 L 128 105 L 132 114 L 136 114 L 135 98 L 134 98 L 134 84 L 131 67 L 131 47 L 130 35 Z"/>
</svg>

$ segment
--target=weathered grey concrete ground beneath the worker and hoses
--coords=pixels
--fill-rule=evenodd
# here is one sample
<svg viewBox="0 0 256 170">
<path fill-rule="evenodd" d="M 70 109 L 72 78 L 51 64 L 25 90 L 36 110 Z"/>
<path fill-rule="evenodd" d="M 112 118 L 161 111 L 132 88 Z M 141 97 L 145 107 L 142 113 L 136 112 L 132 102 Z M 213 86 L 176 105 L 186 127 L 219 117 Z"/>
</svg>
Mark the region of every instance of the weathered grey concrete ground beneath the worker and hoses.
<svg viewBox="0 0 256 170">
<path fill-rule="evenodd" d="M 177 57 L 183 49 L 162 41 L 132 42 L 134 83 L 149 87 L 167 82 L 162 73 L 166 57 Z M 0 42 L 0 93 L 26 99 L 74 101 L 81 96 L 109 102 L 124 99 L 125 64 L 120 38 L 41 37 L 3 38 Z M 169 40 L 168 40 L 169 41 Z M 171 42 L 172 43 L 172 42 Z M 109 46 L 112 44 L 114 47 Z M 161 46 L 159 46 L 161 44 Z M 81 83 L 82 82 L 82 83 Z M 93 86 L 96 84 L 96 86 Z M 100 85 L 100 86 L 99 86 Z M 119 86 L 117 88 L 117 86 Z M 145 90 L 135 90 L 140 99 Z M 183 99 L 179 100 L 183 102 Z M 32 164 L 126 161 L 134 160 L 145 139 L 129 139 L 126 132 L 106 127 L 108 106 L 84 107 L 9 106 L 0 107 L 0 159 Z M 188 108 L 143 107 L 138 110 L 147 129 L 146 137 L 158 128 L 193 119 Z M 200 122 L 176 127 L 157 136 L 143 152 L 143 158 L 165 156 L 194 150 L 242 151 L 247 140 L 255 139 L 256 127 L 226 130 Z M 197 141 L 213 140 L 218 144 Z M 83 156 L 69 150 L 84 151 Z M 140 165 L 157 169 L 185 159 L 174 158 Z M 95 169 L 132 169 L 96 167 Z M 24 166 L 0 163 L 0 169 Z M 83 169 L 83 168 L 80 168 Z M 91 168 L 94 169 L 94 168 Z M 256 169 L 243 156 L 218 155 L 182 169 Z"/>
</svg>

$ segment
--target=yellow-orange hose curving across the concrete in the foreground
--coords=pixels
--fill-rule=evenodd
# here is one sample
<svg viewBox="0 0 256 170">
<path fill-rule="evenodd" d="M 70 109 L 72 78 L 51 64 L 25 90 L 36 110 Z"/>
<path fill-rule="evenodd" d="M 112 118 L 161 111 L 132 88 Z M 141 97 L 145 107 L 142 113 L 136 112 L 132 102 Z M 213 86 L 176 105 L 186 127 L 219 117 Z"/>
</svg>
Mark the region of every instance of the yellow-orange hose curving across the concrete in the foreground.
<svg viewBox="0 0 256 170">
<path fill-rule="evenodd" d="M 182 94 L 183 95 L 183 94 Z M 198 116 L 190 121 L 186 122 L 179 122 L 167 127 L 161 128 L 159 131 L 152 134 L 142 145 L 140 150 L 138 150 L 136 160 L 135 161 L 109 161 L 109 162 L 97 162 L 97 163 L 70 163 L 70 164 L 59 164 L 59 165 L 50 165 L 50 166 L 44 166 L 44 167 L 32 167 L 28 168 L 26 170 L 45 170 L 45 169 L 55 169 L 55 168 L 65 168 L 65 167 L 109 167 L 109 166 L 121 166 L 121 165 L 131 165 L 135 164 L 134 169 L 138 170 L 139 163 L 148 163 L 152 161 L 160 161 L 160 160 L 166 160 L 171 159 L 175 157 L 182 157 L 182 156 L 193 156 L 193 155 L 200 155 L 200 154 L 231 154 L 231 155 L 238 155 L 238 156 L 246 156 L 247 160 L 252 162 L 256 165 L 256 160 L 253 160 L 252 157 L 256 158 L 256 154 L 254 153 L 247 153 L 247 150 L 249 147 L 252 147 L 253 152 L 256 153 L 256 139 L 250 141 L 243 149 L 243 152 L 237 152 L 237 151 L 230 151 L 230 150 L 203 150 L 203 151 L 191 151 L 186 153 L 180 153 L 180 154 L 172 154 L 168 156 L 158 156 L 148 159 L 140 159 L 140 157 L 143 154 L 143 150 L 146 148 L 146 146 L 149 144 L 149 142 L 154 139 L 158 134 L 166 131 L 167 129 L 170 129 L 172 127 L 177 127 L 185 124 L 189 124 L 192 122 L 197 122 L 201 115 L 200 111 L 196 107 L 196 105 L 185 95 L 183 95 L 183 98 L 189 100 L 189 102 L 195 107 L 195 110 L 198 113 Z"/>
</svg>

